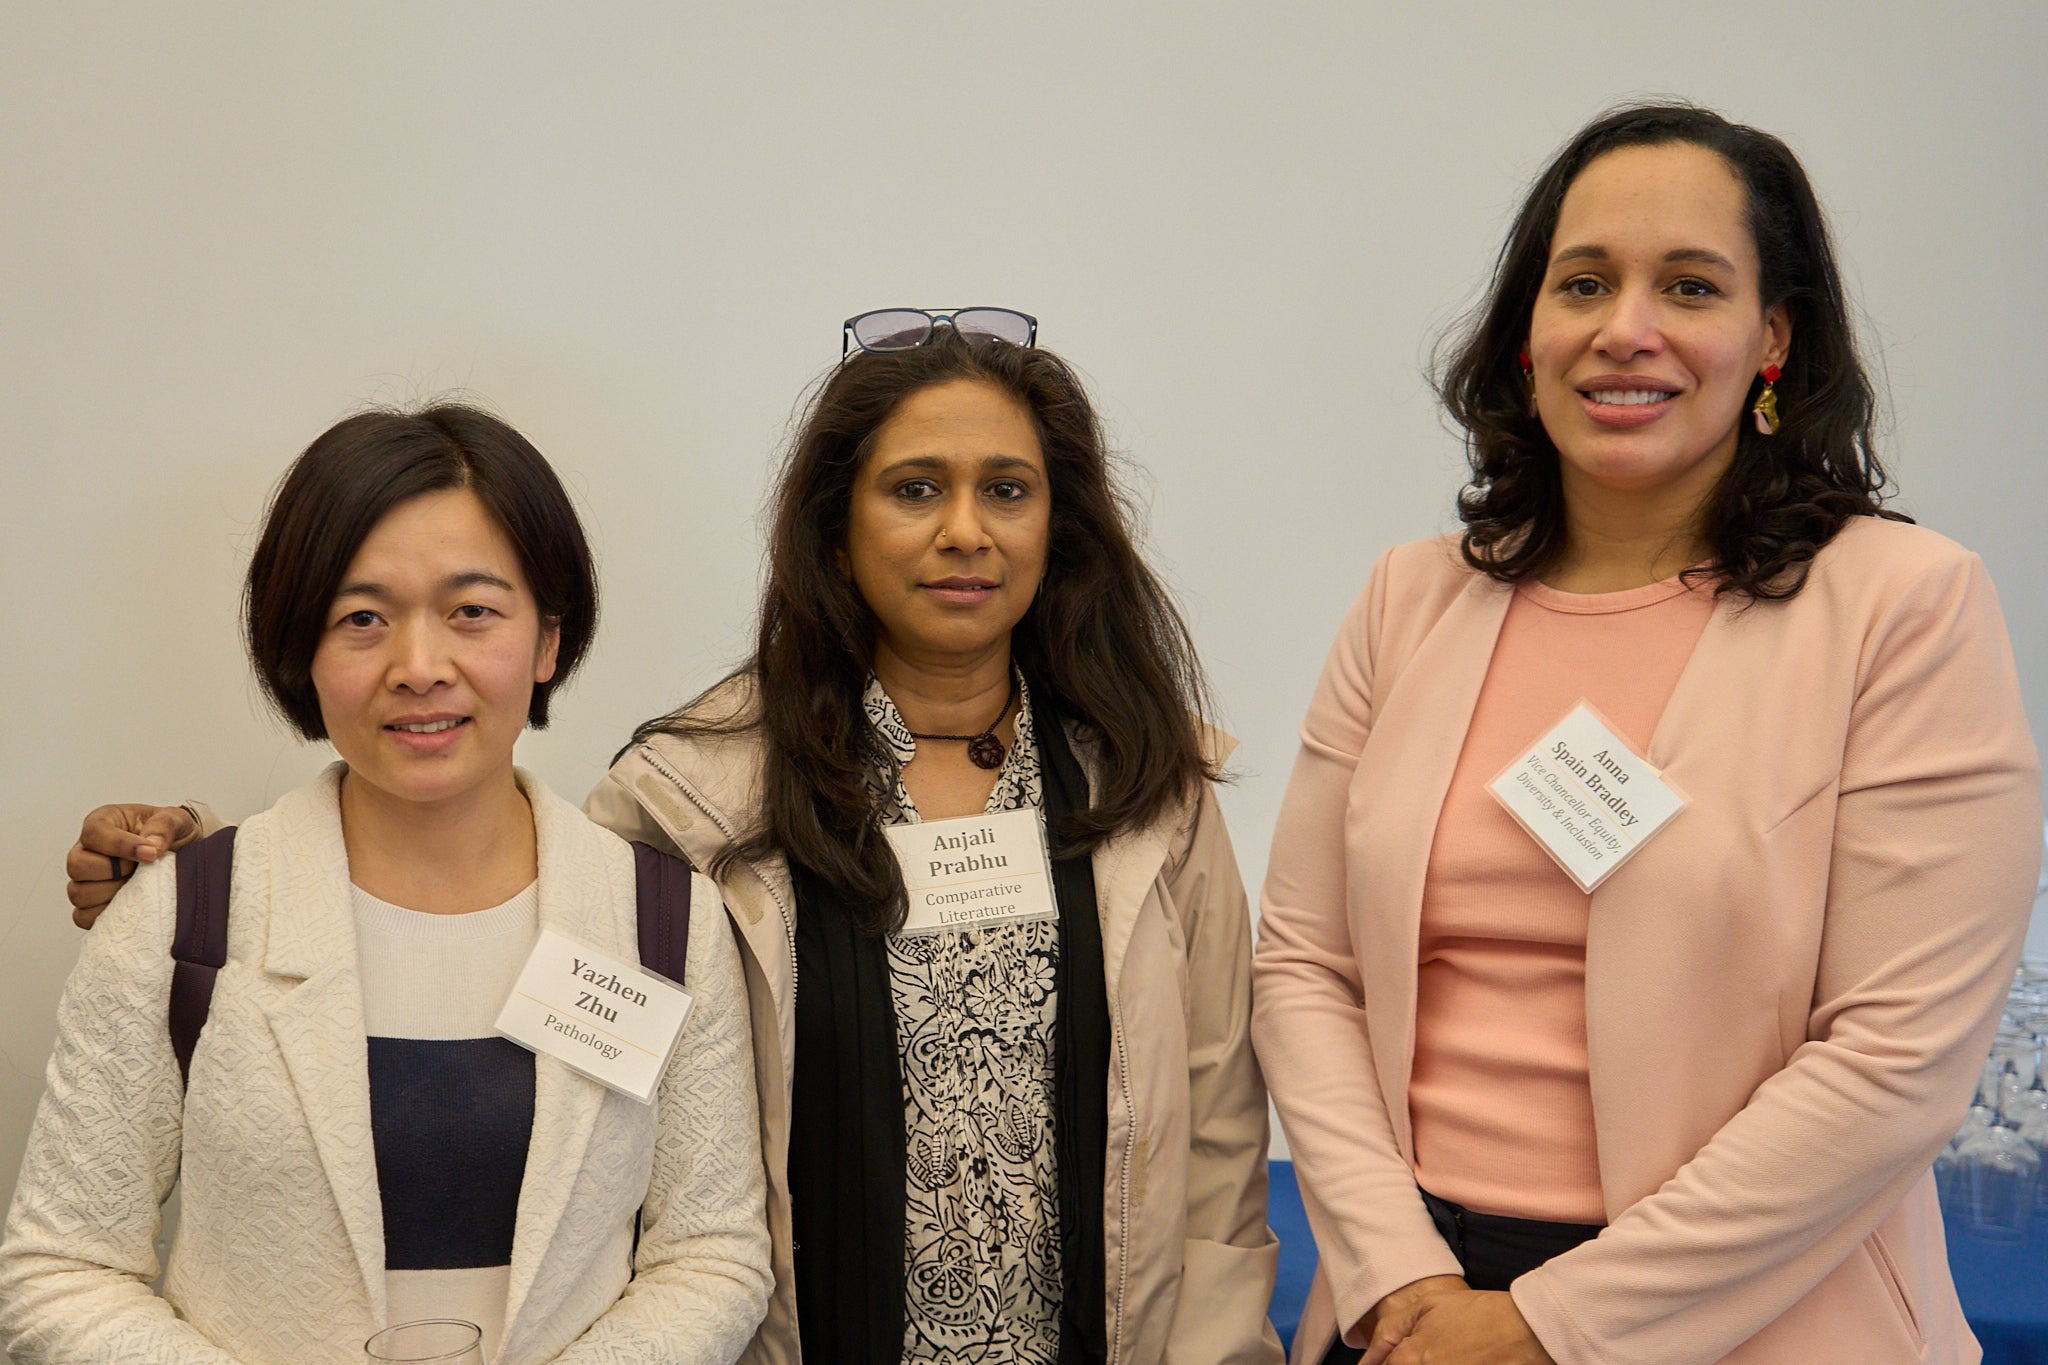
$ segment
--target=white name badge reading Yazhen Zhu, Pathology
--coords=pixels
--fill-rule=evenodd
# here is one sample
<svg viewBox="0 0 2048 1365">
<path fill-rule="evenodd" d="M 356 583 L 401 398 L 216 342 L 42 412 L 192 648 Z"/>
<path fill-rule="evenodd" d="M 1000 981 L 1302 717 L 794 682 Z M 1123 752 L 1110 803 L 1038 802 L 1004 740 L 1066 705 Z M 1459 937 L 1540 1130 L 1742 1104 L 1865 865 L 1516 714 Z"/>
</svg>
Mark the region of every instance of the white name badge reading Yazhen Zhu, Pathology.
<svg viewBox="0 0 2048 1365">
<path fill-rule="evenodd" d="M 647 1103 L 690 1017 L 690 993 L 541 929 L 498 1031 Z"/>
</svg>

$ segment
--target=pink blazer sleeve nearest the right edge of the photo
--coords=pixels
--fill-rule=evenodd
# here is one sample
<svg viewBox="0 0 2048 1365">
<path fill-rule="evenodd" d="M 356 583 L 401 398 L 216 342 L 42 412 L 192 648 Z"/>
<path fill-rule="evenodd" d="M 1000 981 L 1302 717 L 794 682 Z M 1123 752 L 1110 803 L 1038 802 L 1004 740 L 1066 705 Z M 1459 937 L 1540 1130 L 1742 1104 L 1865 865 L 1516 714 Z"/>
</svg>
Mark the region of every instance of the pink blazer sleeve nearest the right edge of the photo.
<svg viewBox="0 0 2048 1365">
<path fill-rule="evenodd" d="M 1772 905 L 1825 917 L 1806 1042 L 1661 1189 L 1516 1281 L 1563 1365 L 1720 1359 L 1853 1252 L 1962 1117 L 2025 935 L 2042 823 L 1991 579 L 1939 544 L 1872 618 L 1804 622 L 1862 632 L 1839 782 L 1782 821 L 1810 823 L 1798 837 L 1827 862 L 1823 905 Z M 1778 681 L 1743 704 L 1796 708 L 1796 684 L 1829 686 Z"/>
</svg>

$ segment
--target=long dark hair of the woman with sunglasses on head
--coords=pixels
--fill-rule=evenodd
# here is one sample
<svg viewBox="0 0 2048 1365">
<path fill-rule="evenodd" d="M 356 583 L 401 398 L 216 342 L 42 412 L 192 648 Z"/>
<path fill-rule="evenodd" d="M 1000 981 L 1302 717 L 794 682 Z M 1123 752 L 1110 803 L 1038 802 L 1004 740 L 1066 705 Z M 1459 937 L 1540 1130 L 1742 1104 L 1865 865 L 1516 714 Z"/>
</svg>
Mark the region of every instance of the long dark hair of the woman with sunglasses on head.
<svg viewBox="0 0 2048 1365">
<path fill-rule="evenodd" d="M 874 741 L 860 704 L 877 620 L 838 555 L 877 432 L 909 395 L 963 379 L 1016 399 L 1044 452 L 1047 573 L 1010 653 L 1034 702 L 1087 726 L 1100 753 L 1087 810 L 1053 831 L 1061 851 L 1159 819 L 1217 778 L 1198 729 L 1210 708 L 1194 641 L 1130 540 L 1102 422 L 1073 368 L 1049 350 L 965 342 L 950 327 L 911 350 L 856 352 L 813 393 L 776 479 L 754 657 L 733 673 L 754 677 L 754 702 L 707 714 L 717 710 L 707 692 L 639 726 L 633 743 L 758 731 L 760 823 L 723 857 L 788 855 L 834 886 L 866 933 L 897 929 L 905 898 L 874 819 Z"/>
</svg>

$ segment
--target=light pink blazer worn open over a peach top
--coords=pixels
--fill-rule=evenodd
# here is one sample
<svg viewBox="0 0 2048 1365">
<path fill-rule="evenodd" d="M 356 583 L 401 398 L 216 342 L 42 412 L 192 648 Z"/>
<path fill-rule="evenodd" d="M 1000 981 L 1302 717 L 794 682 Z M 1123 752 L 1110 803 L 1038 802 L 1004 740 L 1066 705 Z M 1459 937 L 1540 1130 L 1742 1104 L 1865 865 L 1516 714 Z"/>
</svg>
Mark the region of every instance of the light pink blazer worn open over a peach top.
<svg viewBox="0 0 2048 1365">
<path fill-rule="evenodd" d="M 1257 1042 L 1321 1267 L 1296 1338 L 1456 1273 L 1411 1175 L 1421 892 L 1511 589 L 1391 551 L 1303 722 Z M 2040 864 L 2040 769 L 1982 563 L 1855 518 L 1790 602 L 1722 600 L 1649 743 L 1688 808 L 1593 892 L 1608 1226 L 1513 1283 L 1561 1365 L 1966 1365 L 1929 1162 Z"/>
</svg>

